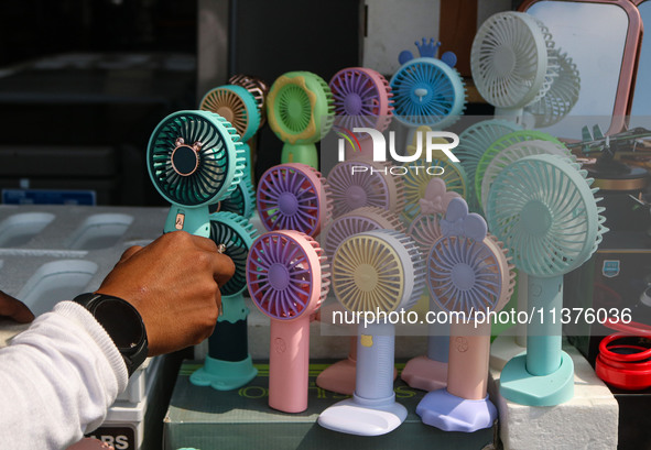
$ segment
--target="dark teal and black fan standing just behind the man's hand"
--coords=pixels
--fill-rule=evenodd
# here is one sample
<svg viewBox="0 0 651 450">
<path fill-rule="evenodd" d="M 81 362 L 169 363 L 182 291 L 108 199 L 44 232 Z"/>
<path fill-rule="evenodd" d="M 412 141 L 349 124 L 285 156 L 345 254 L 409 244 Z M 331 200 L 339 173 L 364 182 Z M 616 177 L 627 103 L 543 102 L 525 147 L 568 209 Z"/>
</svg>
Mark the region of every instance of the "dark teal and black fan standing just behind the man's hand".
<svg viewBox="0 0 651 450">
<path fill-rule="evenodd" d="M 257 232 L 245 218 L 232 212 L 210 215 L 210 239 L 224 244 L 224 254 L 235 264 L 235 274 L 221 287 L 223 314 L 208 338 L 204 366 L 189 381 L 197 386 L 230 391 L 243 386 L 258 374 L 248 350 L 247 317 L 242 293 L 247 289 L 246 267 L 249 249 Z"/>
</svg>

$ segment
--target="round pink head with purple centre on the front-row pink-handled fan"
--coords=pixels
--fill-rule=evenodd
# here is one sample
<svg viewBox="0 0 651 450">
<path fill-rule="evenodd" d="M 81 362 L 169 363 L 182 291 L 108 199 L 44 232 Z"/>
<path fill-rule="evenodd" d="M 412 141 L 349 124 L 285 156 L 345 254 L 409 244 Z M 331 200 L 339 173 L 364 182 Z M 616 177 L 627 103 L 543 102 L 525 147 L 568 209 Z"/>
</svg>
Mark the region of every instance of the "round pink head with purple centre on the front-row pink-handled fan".
<svg viewBox="0 0 651 450">
<path fill-rule="evenodd" d="M 270 231 L 251 245 L 247 282 L 256 306 L 272 319 L 292 320 L 321 307 L 329 289 L 329 266 L 306 234 Z"/>
</svg>

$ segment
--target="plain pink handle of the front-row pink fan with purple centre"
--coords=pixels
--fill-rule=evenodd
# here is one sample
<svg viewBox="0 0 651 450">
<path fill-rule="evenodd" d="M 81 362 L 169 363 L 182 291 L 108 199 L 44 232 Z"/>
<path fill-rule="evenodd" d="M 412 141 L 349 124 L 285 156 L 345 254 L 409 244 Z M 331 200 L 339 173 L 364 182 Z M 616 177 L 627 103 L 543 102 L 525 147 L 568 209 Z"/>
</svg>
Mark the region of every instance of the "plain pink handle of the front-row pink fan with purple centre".
<svg viewBox="0 0 651 450">
<path fill-rule="evenodd" d="M 271 319 L 269 342 L 269 406 L 283 413 L 307 409 L 310 315 L 294 320 Z"/>
</svg>

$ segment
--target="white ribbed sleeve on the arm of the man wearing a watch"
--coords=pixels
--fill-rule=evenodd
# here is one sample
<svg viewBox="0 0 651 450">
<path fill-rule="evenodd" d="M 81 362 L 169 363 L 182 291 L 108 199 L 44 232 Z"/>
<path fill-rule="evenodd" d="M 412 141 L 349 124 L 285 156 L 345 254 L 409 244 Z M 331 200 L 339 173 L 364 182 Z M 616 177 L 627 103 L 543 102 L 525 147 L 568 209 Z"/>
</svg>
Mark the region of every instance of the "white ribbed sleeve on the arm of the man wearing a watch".
<svg viewBox="0 0 651 450">
<path fill-rule="evenodd" d="M 0 349 L 0 450 L 62 450 L 99 427 L 124 361 L 86 308 L 57 304 Z"/>
</svg>

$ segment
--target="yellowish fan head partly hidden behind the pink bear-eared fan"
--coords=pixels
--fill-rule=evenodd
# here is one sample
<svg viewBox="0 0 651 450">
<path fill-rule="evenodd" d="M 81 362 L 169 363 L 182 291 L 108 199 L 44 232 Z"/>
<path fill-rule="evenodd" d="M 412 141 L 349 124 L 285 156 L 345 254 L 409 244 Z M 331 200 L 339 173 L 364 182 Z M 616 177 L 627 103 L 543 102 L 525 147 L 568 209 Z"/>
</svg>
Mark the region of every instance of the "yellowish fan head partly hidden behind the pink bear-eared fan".
<svg viewBox="0 0 651 450">
<path fill-rule="evenodd" d="M 453 164 L 448 160 L 432 158 L 428 163 L 424 157 L 421 157 L 412 163 L 404 163 L 404 166 L 420 167 L 416 169 L 408 169 L 404 178 L 404 198 L 406 206 L 404 207 L 403 217 L 411 222 L 420 212 L 420 200 L 425 196 L 427 185 L 434 177 L 438 177 L 445 182 L 447 191 L 454 191 L 462 197 L 466 196 L 466 173 L 460 164 Z M 430 175 L 427 167 L 443 167 L 442 175 Z M 437 174 L 438 172 L 435 172 Z"/>
</svg>

